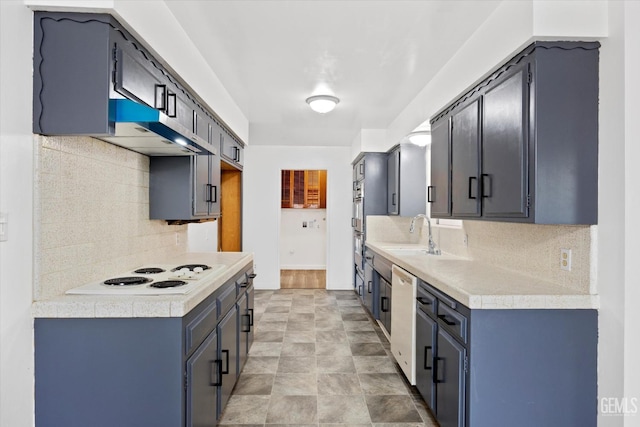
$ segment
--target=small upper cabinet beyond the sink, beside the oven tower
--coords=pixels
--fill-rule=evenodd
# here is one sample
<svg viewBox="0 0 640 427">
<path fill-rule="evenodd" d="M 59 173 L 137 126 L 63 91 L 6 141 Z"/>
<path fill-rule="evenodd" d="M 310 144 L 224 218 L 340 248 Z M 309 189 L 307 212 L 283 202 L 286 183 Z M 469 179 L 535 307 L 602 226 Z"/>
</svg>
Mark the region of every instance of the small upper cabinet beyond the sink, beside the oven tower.
<svg viewBox="0 0 640 427">
<path fill-rule="evenodd" d="M 425 147 L 400 144 L 387 157 L 387 213 L 414 216 L 427 207 Z"/>
</svg>

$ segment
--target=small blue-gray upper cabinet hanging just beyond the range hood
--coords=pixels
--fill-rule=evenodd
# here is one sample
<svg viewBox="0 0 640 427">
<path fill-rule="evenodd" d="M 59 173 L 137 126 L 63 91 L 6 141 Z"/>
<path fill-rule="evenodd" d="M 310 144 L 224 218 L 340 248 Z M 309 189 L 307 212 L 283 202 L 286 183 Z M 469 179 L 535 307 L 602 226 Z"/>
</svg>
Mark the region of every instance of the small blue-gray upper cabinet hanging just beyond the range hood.
<svg viewBox="0 0 640 427">
<path fill-rule="evenodd" d="M 220 216 L 220 158 L 151 157 L 149 218 L 187 221 Z"/>
</svg>

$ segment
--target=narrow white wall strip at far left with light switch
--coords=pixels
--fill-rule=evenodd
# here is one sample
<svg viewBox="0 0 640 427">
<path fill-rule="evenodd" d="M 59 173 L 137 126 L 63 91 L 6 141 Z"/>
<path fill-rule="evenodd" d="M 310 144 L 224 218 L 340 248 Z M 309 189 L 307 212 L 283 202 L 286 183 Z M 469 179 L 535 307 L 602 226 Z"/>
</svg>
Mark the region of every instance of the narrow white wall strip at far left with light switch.
<svg viewBox="0 0 640 427">
<path fill-rule="evenodd" d="M 33 24 L 21 1 L 0 1 L 0 425 L 33 425 Z"/>
</svg>

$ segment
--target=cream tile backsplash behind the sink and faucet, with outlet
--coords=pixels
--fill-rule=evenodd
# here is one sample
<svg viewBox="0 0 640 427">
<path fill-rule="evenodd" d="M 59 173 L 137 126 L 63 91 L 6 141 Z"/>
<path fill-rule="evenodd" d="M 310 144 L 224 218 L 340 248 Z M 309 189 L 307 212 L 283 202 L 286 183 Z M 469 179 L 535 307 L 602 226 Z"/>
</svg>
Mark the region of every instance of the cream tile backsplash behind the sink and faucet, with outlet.
<svg viewBox="0 0 640 427">
<path fill-rule="evenodd" d="M 410 221 L 404 217 L 367 217 L 367 239 L 426 245 L 426 221 L 414 234 L 409 233 Z M 443 252 L 595 294 L 590 262 L 595 230 L 595 226 L 462 221 L 462 227 L 434 225 L 433 238 Z M 571 249 L 571 271 L 560 269 L 562 248 Z"/>
</svg>

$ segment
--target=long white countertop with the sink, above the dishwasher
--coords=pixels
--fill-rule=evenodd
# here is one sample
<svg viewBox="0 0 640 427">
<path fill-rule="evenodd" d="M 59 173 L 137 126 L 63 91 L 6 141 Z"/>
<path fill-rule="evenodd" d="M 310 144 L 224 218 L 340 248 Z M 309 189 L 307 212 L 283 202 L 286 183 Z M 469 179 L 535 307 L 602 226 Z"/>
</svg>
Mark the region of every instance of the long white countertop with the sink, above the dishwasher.
<svg viewBox="0 0 640 427">
<path fill-rule="evenodd" d="M 394 248 L 421 245 L 367 241 L 393 264 L 471 309 L 597 309 L 598 295 L 453 255 L 394 255 Z"/>
</svg>

